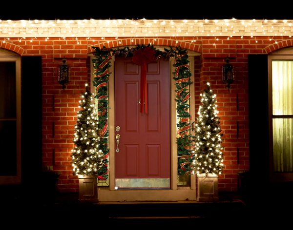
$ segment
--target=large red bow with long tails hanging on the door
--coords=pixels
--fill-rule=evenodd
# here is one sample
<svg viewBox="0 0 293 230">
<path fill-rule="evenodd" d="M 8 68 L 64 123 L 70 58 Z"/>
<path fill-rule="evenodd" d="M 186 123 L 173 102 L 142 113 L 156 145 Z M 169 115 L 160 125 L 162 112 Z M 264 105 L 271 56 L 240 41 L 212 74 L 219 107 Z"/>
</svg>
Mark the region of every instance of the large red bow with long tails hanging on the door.
<svg viewBox="0 0 293 230">
<path fill-rule="evenodd" d="M 141 104 L 140 112 L 144 114 L 144 104 L 146 114 L 148 113 L 148 101 L 147 101 L 147 88 L 146 88 L 146 64 L 151 62 L 155 58 L 155 51 L 151 47 L 146 47 L 144 50 L 139 49 L 133 52 L 132 61 L 142 66 L 141 73 Z"/>
</svg>

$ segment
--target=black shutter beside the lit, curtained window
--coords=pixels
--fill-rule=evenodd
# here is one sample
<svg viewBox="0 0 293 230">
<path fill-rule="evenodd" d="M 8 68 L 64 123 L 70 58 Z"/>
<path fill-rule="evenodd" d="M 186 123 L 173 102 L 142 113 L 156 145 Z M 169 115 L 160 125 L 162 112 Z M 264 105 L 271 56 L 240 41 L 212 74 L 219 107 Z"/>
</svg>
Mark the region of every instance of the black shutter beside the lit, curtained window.
<svg viewBox="0 0 293 230">
<path fill-rule="evenodd" d="M 250 172 L 263 183 L 270 173 L 268 55 L 248 56 L 248 79 Z"/>
</svg>

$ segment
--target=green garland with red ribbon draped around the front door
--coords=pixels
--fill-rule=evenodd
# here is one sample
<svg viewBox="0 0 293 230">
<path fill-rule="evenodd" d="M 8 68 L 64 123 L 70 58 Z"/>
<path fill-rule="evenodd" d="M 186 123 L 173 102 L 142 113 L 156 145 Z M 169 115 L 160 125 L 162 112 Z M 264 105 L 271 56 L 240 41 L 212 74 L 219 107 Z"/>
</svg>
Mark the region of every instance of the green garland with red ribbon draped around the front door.
<svg viewBox="0 0 293 230">
<path fill-rule="evenodd" d="M 188 111 L 189 104 L 189 85 L 191 84 L 190 77 L 191 72 L 188 68 L 188 55 L 185 49 L 176 47 L 173 50 L 164 49 L 160 51 L 155 49 L 152 45 L 137 45 L 135 48 L 125 47 L 123 49 L 107 49 L 105 46 L 100 49 L 99 47 L 93 47 L 95 59 L 92 59 L 94 63 L 94 68 L 96 69 L 94 78 L 94 87 L 97 88 L 97 95 L 95 98 L 98 99 L 98 115 L 99 115 L 99 130 L 104 134 L 102 140 L 100 140 L 100 150 L 104 153 L 103 168 L 99 171 L 99 175 L 103 175 L 104 178 L 107 177 L 107 157 L 109 154 L 109 149 L 107 146 L 107 119 L 108 119 L 108 80 L 109 75 L 108 69 L 110 65 L 111 55 L 127 58 L 133 57 L 134 51 L 138 49 L 144 50 L 146 47 L 151 47 L 155 51 L 156 59 L 159 58 L 170 58 L 175 57 L 175 62 L 173 66 L 176 67 L 176 77 L 174 77 L 176 84 L 176 102 L 177 102 L 177 114 L 179 118 L 178 127 L 178 137 L 177 137 L 177 149 L 178 156 L 180 159 L 178 161 L 178 174 L 191 174 L 190 162 L 192 162 L 192 151 L 191 151 L 191 134 L 190 134 L 190 113 Z M 184 130 L 184 131 L 183 131 Z"/>
</svg>

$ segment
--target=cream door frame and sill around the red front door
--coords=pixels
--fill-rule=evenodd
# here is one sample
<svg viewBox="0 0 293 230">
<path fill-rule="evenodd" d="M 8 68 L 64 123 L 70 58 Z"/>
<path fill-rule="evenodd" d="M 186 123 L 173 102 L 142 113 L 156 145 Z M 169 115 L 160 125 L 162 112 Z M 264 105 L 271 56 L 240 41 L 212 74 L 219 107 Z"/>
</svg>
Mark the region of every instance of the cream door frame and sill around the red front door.
<svg viewBox="0 0 293 230">
<path fill-rule="evenodd" d="M 135 47 L 135 46 L 133 46 Z M 154 46 L 156 49 L 164 50 L 164 46 Z M 130 47 L 131 48 L 131 47 Z M 169 47 L 166 47 L 167 49 Z M 115 49 L 115 48 L 113 48 Z M 175 49 L 175 48 L 174 48 Z M 192 73 L 191 82 L 194 82 L 194 56 L 200 54 L 193 51 L 188 51 L 189 61 L 192 63 L 189 66 L 189 70 Z M 178 174 L 178 157 L 177 157 L 177 144 L 176 144 L 176 86 L 174 84 L 175 67 L 173 66 L 174 58 L 170 58 L 170 183 L 171 187 L 169 190 L 143 190 L 143 189 L 132 189 L 132 190 L 117 190 L 115 189 L 115 153 L 116 153 L 116 139 L 115 139 L 115 69 L 114 62 L 115 57 L 113 56 L 111 61 L 111 67 L 109 68 L 110 74 L 108 84 L 109 104 L 108 107 L 108 138 L 109 138 L 109 187 L 99 187 L 98 198 L 100 201 L 135 201 L 135 200 L 196 200 L 196 175 L 191 175 L 191 186 L 190 187 L 178 187 L 177 186 L 177 174 Z M 92 66 L 92 65 L 91 65 Z M 93 67 L 91 67 L 91 73 L 94 73 Z M 94 75 L 92 75 L 92 79 Z M 191 85 L 191 87 L 194 85 Z M 94 92 L 93 87 L 91 87 Z M 195 117 L 195 102 L 194 102 L 194 88 L 190 90 L 190 114 L 191 117 Z"/>
</svg>

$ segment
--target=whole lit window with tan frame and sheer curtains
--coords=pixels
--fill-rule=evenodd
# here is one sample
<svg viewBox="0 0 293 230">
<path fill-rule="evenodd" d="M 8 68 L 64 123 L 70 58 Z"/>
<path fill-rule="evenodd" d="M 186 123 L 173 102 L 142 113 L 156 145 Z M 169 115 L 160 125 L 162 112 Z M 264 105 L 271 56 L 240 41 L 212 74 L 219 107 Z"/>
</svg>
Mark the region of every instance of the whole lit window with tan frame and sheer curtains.
<svg viewBox="0 0 293 230">
<path fill-rule="evenodd" d="M 292 89 L 293 57 L 269 56 L 271 178 L 277 181 L 293 175 Z"/>
</svg>

